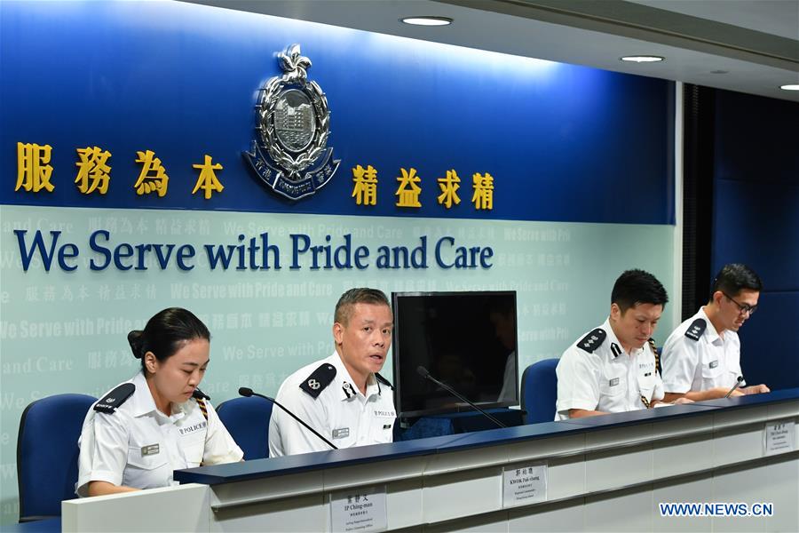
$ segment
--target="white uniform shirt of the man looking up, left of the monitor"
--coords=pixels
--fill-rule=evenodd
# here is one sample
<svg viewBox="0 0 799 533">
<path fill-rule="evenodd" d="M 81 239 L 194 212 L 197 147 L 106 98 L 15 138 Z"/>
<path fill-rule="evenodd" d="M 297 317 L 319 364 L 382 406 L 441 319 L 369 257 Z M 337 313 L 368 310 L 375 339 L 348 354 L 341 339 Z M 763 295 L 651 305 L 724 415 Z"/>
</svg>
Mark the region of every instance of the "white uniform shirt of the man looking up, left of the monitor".
<svg viewBox="0 0 799 533">
<path fill-rule="evenodd" d="M 336 369 L 336 377 L 313 398 L 300 388 L 321 364 Z M 374 375 L 367 381 L 366 395 L 353 385 L 341 357 L 334 352 L 327 359 L 313 362 L 286 378 L 277 394 L 277 401 L 322 434 L 337 448 L 392 442 L 397 412 L 392 389 L 377 382 Z M 272 410 L 269 421 L 269 457 L 280 457 L 331 449 L 280 407 Z"/>
</svg>

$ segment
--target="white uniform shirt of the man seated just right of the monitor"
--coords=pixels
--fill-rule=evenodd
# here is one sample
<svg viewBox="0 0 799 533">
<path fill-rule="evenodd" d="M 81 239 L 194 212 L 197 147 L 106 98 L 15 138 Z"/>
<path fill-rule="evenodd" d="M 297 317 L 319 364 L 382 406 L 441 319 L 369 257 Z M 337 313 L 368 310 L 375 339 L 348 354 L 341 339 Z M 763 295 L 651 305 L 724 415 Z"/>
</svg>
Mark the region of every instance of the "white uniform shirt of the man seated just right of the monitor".
<svg viewBox="0 0 799 533">
<path fill-rule="evenodd" d="M 641 396 L 649 402 L 663 399 L 663 382 L 655 369 L 655 358 L 648 344 L 625 354 L 613 334 L 610 322 L 600 326 L 605 340 L 592 352 L 580 345 L 583 337 L 560 357 L 558 368 L 558 403 L 556 420 L 569 418 L 570 409 L 622 412 L 646 409 Z M 596 335 L 593 337 L 597 337 Z M 598 337 L 597 337 L 598 339 Z"/>
</svg>

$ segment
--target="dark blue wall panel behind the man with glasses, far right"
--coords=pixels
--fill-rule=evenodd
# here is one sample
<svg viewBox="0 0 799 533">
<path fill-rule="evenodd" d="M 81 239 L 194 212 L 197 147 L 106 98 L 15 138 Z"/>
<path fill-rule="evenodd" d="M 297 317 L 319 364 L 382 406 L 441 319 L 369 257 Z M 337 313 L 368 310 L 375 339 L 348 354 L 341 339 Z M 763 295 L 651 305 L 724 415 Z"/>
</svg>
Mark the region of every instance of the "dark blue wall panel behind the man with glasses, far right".
<svg viewBox="0 0 799 533">
<path fill-rule="evenodd" d="M 741 328 L 748 383 L 799 386 L 799 356 L 785 333 L 799 316 L 799 104 L 716 93 L 711 277 L 746 263 L 763 280 L 757 314 Z"/>
</svg>

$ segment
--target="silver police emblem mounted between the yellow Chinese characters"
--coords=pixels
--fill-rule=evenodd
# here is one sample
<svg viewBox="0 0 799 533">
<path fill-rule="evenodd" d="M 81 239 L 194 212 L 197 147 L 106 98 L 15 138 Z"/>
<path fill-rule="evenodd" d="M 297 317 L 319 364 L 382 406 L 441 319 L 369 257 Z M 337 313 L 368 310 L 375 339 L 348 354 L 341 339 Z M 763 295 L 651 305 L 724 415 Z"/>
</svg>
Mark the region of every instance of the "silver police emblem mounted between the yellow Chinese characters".
<svg viewBox="0 0 799 533">
<path fill-rule="evenodd" d="M 260 179 L 291 200 L 312 195 L 341 160 L 328 147 L 330 110 L 319 84 L 308 80 L 311 60 L 292 44 L 278 54 L 282 76 L 270 78 L 256 107 L 256 138 L 244 152 Z"/>
</svg>

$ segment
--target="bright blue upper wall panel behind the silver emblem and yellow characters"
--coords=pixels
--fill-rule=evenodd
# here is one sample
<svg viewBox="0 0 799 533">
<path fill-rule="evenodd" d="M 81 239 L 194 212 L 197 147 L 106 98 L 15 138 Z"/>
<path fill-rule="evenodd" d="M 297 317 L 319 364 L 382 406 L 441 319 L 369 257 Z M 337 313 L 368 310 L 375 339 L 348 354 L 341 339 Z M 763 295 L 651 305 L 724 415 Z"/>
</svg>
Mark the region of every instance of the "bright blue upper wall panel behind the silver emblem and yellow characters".
<svg viewBox="0 0 799 533">
<path fill-rule="evenodd" d="M 0 4 L 0 202 L 553 221 L 674 221 L 673 84 L 592 68 L 422 43 L 194 4 Z M 30 31 L 36 28 L 36 31 Z M 298 203 L 265 191 L 241 158 L 275 52 L 299 43 L 332 111 L 342 166 Z M 399 44 L 399 45 L 398 45 Z M 54 193 L 13 193 L 16 143 L 53 147 Z M 112 153 L 108 194 L 80 195 L 75 149 Z M 136 151 L 170 175 L 135 195 Z M 192 164 L 222 163 L 223 194 L 189 195 Z M 378 170 L 378 203 L 353 201 L 352 167 Z M 423 179 L 421 210 L 397 208 L 400 167 Z M 455 169 L 462 203 L 436 202 Z M 471 175 L 495 179 L 476 211 Z"/>
</svg>

